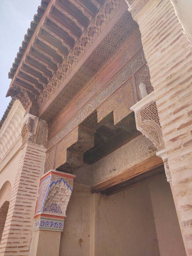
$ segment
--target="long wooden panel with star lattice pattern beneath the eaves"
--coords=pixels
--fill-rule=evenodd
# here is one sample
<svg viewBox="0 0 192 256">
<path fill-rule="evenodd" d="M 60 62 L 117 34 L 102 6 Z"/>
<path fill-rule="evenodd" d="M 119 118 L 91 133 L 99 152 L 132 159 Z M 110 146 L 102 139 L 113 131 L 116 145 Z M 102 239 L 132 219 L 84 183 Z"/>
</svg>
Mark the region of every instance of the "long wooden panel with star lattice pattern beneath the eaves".
<svg viewBox="0 0 192 256">
<path fill-rule="evenodd" d="M 128 36 L 133 33 L 135 28 L 137 28 L 136 22 L 132 20 L 131 14 L 129 12 L 125 12 L 116 22 L 114 28 L 109 31 L 108 35 L 92 52 L 91 56 L 84 62 L 82 67 L 71 78 L 70 82 L 66 84 L 64 90 L 62 90 L 57 98 L 52 101 L 50 106 L 46 109 L 41 117 L 44 120 L 53 119 L 54 116 L 56 116 L 62 110 L 62 108 L 64 108 L 74 98 L 77 92 L 79 92 L 86 85 L 86 83 L 89 82 L 92 76 L 94 76 L 96 72 L 98 72 L 99 69 L 104 65 L 104 63 L 118 50 L 119 45 L 122 45 L 125 40 L 127 40 Z M 66 69 L 66 67 L 63 68 Z M 60 81 L 58 83 L 60 84 Z M 55 91 L 59 84 L 57 87 L 55 86 Z M 51 91 L 51 93 L 53 92 Z M 45 96 L 46 100 L 48 98 L 49 96 Z M 39 101 L 42 107 L 45 101 Z"/>
</svg>

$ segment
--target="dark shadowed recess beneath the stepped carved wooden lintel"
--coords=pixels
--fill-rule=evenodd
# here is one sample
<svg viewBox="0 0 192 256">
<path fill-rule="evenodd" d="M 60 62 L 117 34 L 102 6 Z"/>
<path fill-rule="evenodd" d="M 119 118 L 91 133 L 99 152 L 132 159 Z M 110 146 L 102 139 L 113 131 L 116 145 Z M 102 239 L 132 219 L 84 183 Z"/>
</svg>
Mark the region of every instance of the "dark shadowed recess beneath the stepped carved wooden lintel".
<svg viewBox="0 0 192 256">
<path fill-rule="evenodd" d="M 81 125 L 94 131 L 94 147 L 83 156 L 83 161 L 87 164 L 93 164 L 140 134 L 136 129 L 134 113 L 114 125 L 113 112 L 99 123 L 97 112 L 94 112 Z"/>
</svg>

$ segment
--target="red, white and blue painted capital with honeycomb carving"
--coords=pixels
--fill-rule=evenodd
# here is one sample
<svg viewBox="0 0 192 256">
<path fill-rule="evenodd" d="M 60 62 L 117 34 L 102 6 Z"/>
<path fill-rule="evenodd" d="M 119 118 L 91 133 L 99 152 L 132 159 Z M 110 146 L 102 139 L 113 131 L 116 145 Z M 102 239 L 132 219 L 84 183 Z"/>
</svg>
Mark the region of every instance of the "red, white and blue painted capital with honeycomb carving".
<svg viewBox="0 0 192 256">
<path fill-rule="evenodd" d="M 63 231 L 75 175 L 51 170 L 40 180 L 35 210 L 35 227 Z"/>
</svg>

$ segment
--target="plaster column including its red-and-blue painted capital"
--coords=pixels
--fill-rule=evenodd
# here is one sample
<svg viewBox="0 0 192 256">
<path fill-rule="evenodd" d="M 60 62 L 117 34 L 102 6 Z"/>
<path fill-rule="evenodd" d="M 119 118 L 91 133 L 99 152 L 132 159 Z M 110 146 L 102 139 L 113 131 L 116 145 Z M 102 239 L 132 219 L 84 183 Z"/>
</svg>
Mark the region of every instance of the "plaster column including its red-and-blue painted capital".
<svg viewBox="0 0 192 256">
<path fill-rule="evenodd" d="M 40 179 L 30 256 L 59 256 L 60 236 L 75 175 L 50 170 Z"/>
</svg>

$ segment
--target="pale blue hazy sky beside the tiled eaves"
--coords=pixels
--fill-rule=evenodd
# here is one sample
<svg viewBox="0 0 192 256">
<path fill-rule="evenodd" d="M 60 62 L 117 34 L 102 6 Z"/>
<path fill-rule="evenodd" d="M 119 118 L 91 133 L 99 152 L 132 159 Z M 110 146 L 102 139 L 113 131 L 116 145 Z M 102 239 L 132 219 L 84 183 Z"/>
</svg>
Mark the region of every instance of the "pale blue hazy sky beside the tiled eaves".
<svg viewBox="0 0 192 256">
<path fill-rule="evenodd" d="M 40 4 L 41 0 L 0 1 L 0 120 L 11 100 L 5 98 L 11 83 L 8 73 Z"/>
</svg>

